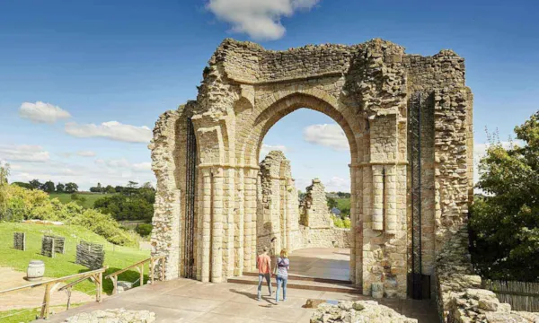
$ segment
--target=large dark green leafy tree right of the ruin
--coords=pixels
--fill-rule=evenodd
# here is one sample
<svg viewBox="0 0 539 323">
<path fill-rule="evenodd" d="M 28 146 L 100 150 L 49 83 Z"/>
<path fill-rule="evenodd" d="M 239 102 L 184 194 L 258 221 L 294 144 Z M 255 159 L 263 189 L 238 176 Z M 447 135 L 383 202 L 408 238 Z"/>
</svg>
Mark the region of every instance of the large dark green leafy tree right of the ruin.
<svg viewBox="0 0 539 323">
<path fill-rule="evenodd" d="M 523 145 L 491 143 L 470 216 L 473 263 L 491 279 L 538 281 L 539 111 L 515 127 Z"/>
</svg>

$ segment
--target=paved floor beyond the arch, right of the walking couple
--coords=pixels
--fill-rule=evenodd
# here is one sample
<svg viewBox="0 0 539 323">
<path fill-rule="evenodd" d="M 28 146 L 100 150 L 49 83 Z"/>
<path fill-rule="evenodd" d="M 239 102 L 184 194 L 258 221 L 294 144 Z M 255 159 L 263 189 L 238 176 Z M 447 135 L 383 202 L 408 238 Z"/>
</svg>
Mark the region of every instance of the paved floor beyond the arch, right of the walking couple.
<svg viewBox="0 0 539 323">
<path fill-rule="evenodd" d="M 310 248 L 289 255 L 290 274 L 316 278 L 350 279 L 350 249 Z"/>
</svg>

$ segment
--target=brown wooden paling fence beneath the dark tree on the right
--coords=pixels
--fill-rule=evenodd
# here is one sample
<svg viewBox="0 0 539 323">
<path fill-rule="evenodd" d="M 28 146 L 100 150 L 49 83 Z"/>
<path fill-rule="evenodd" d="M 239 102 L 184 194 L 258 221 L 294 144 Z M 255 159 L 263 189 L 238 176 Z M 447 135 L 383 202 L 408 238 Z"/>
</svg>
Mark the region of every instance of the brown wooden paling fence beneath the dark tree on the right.
<svg viewBox="0 0 539 323">
<path fill-rule="evenodd" d="M 495 292 L 512 310 L 539 311 L 539 283 L 483 280 L 482 288 Z"/>
</svg>

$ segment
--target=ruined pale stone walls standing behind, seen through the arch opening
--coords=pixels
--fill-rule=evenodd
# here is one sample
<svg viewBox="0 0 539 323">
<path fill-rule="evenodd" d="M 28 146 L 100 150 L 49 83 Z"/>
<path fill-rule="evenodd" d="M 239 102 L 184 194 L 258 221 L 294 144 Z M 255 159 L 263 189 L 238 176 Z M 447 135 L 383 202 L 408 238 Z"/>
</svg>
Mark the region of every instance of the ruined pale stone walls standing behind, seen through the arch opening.
<svg viewBox="0 0 539 323">
<path fill-rule="evenodd" d="M 334 227 L 320 179 L 313 179 L 303 204 L 298 205 L 290 162 L 284 153 L 271 151 L 260 167 L 256 222 L 259 252 L 270 246 L 275 254 L 283 248 L 350 248 L 350 230 Z"/>
</svg>

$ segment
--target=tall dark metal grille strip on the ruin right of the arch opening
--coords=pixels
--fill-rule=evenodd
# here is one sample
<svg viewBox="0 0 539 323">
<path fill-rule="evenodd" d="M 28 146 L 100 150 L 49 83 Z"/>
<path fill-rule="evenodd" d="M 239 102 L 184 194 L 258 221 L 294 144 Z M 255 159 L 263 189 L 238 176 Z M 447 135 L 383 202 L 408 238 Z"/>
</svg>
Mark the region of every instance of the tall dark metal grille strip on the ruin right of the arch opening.
<svg viewBox="0 0 539 323">
<path fill-rule="evenodd" d="M 421 276 L 421 93 L 411 97 L 411 281 L 412 298 L 422 299 Z"/>
</svg>

